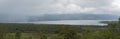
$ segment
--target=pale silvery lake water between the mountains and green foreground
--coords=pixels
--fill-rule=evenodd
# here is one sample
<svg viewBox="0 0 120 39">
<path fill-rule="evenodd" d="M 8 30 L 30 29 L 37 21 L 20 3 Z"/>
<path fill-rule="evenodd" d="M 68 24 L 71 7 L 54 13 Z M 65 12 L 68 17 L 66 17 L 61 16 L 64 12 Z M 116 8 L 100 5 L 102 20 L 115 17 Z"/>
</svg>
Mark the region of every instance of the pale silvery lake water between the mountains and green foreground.
<svg viewBox="0 0 120 39">
<path fill-rule="evenodd" d="M 101 21 L 113 21 L 113 20 L 59 20 L 59 21 L 37 21 L 28 22 L 33 24 L 64 24 L 64 25 L 107 25 L 100 23 Z"/>
</svg>

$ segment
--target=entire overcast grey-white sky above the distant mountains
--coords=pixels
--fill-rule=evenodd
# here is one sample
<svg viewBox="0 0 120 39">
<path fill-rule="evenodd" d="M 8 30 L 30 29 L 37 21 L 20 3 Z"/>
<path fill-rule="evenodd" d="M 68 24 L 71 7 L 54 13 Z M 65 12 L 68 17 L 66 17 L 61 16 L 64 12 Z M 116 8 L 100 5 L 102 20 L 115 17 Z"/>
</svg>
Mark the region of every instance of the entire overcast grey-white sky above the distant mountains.
<svg viewBox="0 0 120 39">
<path fill-rule="evenodd" d="M 44 13 L 120 15 L 120 0 L 0 0 L 0 18 Z"/>
</svg>

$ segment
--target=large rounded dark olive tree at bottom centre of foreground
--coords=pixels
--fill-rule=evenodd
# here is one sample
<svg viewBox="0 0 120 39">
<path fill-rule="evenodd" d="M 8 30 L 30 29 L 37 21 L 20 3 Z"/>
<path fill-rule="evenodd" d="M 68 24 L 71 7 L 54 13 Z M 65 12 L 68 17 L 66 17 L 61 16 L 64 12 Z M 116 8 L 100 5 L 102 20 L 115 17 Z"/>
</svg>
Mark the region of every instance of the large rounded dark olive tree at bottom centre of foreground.
<svg viewBox="0 0 120 39">
<path fill-rule="evenodd" d="M 74 27 L 70 27 L 70 26 L 63 26 L 58 30 L 58 34 L 60 36 L 63 36 L 64 39 L 79 39 L 77 32 L 75 30 Z"/>
</svg>

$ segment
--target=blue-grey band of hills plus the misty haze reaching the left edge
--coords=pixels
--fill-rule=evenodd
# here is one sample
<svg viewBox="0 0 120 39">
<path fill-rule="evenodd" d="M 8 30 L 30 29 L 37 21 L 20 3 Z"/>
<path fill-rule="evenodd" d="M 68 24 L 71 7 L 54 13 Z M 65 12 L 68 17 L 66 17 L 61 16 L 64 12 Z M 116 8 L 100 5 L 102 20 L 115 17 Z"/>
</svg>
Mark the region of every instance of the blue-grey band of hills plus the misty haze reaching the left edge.
<svg viewBox="0 0 120 39">
<path fill-rule="evenodd" d="M 0 23 L 56 21 L 56 20 L 117 20 L 119 16 L 112 14 L 44 14 L 44 15 L 1 15 Z"/>
</svg>

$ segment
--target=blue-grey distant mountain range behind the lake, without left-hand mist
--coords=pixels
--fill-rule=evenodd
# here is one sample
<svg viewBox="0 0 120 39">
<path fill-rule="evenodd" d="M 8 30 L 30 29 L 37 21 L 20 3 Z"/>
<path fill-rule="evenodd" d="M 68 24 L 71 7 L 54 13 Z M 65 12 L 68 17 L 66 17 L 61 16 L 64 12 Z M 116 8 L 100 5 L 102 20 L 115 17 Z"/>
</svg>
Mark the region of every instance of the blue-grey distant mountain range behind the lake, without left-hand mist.
<svg viewBox="0 0 120 39">
<path fill-rule="evenodd" d="M 119 16 L 111 14 L 45 14 L 43 16 L 30 16 L 29 21 L 54 20 L 115 20 Z"/>
</svg>

